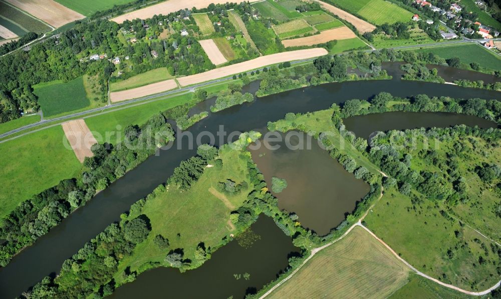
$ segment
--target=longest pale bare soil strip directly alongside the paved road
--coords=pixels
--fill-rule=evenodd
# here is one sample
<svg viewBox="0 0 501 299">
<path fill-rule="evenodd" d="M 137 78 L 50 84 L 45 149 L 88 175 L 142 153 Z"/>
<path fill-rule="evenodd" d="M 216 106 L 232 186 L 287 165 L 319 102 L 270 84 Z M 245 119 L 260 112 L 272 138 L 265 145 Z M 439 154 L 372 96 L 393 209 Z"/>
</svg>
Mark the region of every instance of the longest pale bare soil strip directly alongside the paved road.
<svg viewBox="0 0 501 299">
<path fill-rule="evenodd" d="M 181 86 L 187 86 L 191 84 L 214 80 L 217 78 L 222 78 L 225 76 L 230 76 L 232 74 L 237 74 L 243 71 L 263 67 L 270 64 L 313 58 L 313 57 L 323 56 L 326 54 L 328 54 L 328 52 L 324 48 L 312 48 L 312 49 L 303 49 L 289 52 L 281 52 L 281 53 L 261 56 L 258 58 L 254 58 L 240 63 L 235 63 L 228 66 L 223 66 L 220 68 L 214 68 L 209 71 L 205 71 L 194 75 L 179 77 L 177 78 L 177 81 Z"/>
</svg>

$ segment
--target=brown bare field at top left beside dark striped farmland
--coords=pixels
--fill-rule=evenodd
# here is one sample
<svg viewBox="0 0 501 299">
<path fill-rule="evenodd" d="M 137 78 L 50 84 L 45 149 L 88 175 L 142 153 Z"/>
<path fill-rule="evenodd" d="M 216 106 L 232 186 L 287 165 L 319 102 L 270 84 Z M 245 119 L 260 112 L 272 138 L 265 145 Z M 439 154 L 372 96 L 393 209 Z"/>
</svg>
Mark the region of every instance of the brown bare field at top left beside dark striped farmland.
<svg viewBox="0 0 501 299">
<path fill-rule="evenodd" d="M 71 10 L 70 8 L 53 0 L 6 1 L 53 25 L 54 27 L 61 27 L 62 25 L 74 20 L 85 18 L 85 15 Z"/>
</svg>

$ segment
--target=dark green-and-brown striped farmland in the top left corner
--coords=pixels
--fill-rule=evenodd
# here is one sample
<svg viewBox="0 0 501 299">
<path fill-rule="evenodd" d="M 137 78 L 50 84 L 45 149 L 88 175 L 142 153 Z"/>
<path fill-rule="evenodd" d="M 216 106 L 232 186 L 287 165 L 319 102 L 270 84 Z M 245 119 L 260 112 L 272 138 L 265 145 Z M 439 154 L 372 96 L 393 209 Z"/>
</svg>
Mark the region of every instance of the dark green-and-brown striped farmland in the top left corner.
<svg viewBox="0 0 501 299">
<path fill-rule="evenodd" d="M 0 1 L 0 25 L 7 27 L 19 36 L 30 31 L 45 33 L 51 30 L 51 27 L 40 20 L 3 1 Z"/>
</svg>

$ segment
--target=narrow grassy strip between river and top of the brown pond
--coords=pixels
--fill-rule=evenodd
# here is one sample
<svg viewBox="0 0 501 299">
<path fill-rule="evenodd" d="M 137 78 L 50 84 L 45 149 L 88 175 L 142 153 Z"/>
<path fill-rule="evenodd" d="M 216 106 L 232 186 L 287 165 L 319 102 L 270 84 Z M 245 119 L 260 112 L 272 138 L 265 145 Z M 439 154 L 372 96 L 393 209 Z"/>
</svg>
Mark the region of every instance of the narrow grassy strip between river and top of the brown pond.
<svg viewBox="0 0 501 299">
<path fill-rule="evenodd" d="M 367 157 L 358 151 L 352 143 L 345 141 L 345 139 L 340 136 L 339 130 L 334 126 L 331 120 L 333 113 L 333 109 L 306 113 L 297 116 L 294 123 L 296 123 L 297 126 L 304 125 L 308 131 L 330 132 L 330 135 L 327 138 L 332 141 L 334 146 L 338 148 L 341 153 L 353 157 L 357 162 L 357 165 L 363 165 L 369 171 L 379 174 L 379 168 L 376 165 L 374 165 Z M 280 131 L 288 131 L 296 127 L 286 119 L 280 119 L 274 123 L 276 124 L 277 130 Z"/>
</svg>

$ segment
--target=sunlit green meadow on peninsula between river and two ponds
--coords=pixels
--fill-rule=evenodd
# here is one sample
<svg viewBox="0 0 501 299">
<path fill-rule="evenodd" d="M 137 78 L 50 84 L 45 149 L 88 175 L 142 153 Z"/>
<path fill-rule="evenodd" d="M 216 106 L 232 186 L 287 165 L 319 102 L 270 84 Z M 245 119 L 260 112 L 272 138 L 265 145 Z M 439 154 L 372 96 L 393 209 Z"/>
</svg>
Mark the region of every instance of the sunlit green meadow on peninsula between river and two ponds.
<svg viewBox="0 0 501 299">
<path fill-rule="evenodd" d="M 194 251 L 198 243 L 206 248 L 217 247 L 224 236 L 236 233 L 229 219 L 232 210 L 240 206 L 247 198 L 252 184 L 248 180 L 247 162 L 239 157 L 241 151 L 224 146 L 219 151 L 223 161 L 222 168 L 205 168 L 204 173 L 188 191 L 181 191 L 176 186 L 168 186 L 165 192 L 147 200 L 141 213 L 151 221 L 152 230 L 148 238 L 138 244 L 134 254 L 124 258 L 116 277 L 121 279 L 121 271 L 130 266 L 138 269 L 149 261 L 164 264 L 163 259 L 169 251 L 160 249 L 153 239 L 161 234 L 170 242 L 170 249 L 183 248 L 184 258 L 196 264 Z M 216 184 L 225 179 L 237 183 L 246 181 L 248 187 L 234 195 L 223 194 L 216 190 Z M 129 218 L 136 217 L 131 214 Z"/>
</svg>

